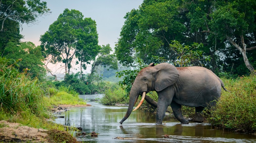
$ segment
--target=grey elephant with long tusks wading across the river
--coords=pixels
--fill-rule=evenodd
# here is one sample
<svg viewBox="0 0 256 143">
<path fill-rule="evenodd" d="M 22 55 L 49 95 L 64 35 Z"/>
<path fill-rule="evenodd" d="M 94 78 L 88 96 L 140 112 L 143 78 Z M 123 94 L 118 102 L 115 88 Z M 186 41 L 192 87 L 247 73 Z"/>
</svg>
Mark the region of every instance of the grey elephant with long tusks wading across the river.
<svg viewBox="0 0 256 143">
<path fill-rule="evenodd" d="M 131 87 L 129 95 L 129 106 L 123 119 L 123 123 L 131 114 L 139 95 L 141 101 L 134 109 L 138 109 L 144 99 L 151 105 L 157 106 L 156 125 L 162 124 L 166 109 L 169 105 L 174 116 L 181 124 L 188 124 L 181 112 L 181 105 L 195 107 L 195 122 L 203 122 L 202 112 L 205 107 L 210 108 L 216 104 L 221 96 L 222 80 L 212 71 L 203 67 L 175 67 L 169 63 L 155 65 L 151 63 L 148 67 L 139 71 Z M 158 94 L 158 103 L 145 95 L 150 91 Z M 133 110 L 133 111 L 134 111 Z"/>
</svg>

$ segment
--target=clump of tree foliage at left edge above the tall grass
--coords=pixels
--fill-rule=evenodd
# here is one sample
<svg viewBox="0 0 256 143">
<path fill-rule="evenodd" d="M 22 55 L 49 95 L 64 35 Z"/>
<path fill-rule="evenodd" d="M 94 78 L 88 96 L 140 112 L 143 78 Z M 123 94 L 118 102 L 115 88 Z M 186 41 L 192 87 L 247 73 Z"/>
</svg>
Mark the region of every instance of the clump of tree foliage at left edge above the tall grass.
<svg viewBox="0 0 256 143">
<path fill-rule="evenodd" d="M 0 55 L 18 60 L 19 71 L 25 70 L 32 77 L 42 79 L 41 48 L 32 42 L 20 42 L 22 24 L 35 24 L 37 18 L 50 13 L 46 2 L 40 0 L 0 0 Z M 20 28 L 21 27 L 21 28 Z"/>
</svg>

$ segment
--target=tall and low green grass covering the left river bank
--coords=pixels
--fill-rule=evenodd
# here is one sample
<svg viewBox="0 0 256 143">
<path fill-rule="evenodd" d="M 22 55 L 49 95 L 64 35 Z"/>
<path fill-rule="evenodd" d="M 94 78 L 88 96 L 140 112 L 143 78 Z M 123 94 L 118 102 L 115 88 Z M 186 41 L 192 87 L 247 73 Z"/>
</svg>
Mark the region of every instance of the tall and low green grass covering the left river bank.
<svg viewBox="0 0 256 143">
<path fill-rule="evenodd" d="M 57 104 L 86 103 L 79 99 L 74 90 L 66 87 L 48 88 L 37 78 L 31 79 L 26 71 L 19 72 L 14 67 L 18 66 L 17 62 L 18 60 L 0 57 L 0 120 L 47 129 L 49 131 L 46 140 L 51 142 L 76 142 L 70 135 L 73 131 L 49 120 L 53 118 L 50 108 Z M 4 124 L 0 125 L 0 128 L 4 127 Z M 62 136 L 56 138 L 56 134 Z"/>
</svg>

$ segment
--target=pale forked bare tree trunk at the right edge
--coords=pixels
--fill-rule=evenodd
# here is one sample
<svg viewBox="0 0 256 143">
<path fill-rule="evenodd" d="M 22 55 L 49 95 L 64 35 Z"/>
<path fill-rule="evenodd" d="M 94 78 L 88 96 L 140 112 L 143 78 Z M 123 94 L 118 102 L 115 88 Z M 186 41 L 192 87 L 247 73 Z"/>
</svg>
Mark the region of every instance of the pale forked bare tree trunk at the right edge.
<svg viewBox="0 0 256 143">
<path fill-rule="evenodd" d="M 231 37 L 229 36 L 226 36 L 227 40 L 233 45 L 235 46 L 239 51 L 240 53 L 242 54 L 243 58 L 244 58 L 244 62 L 245 62 L 245 66 L 249 69 L 249 71 L 252 73 L 252 74 L 255 74 L 256 75 L 256 72 L 254 71 L 254 68 L 253 66 L 251 65 L 251 63 L 249 62 L 247 56 L 246 56 L 246 44 L 244 43 L 244 37 L 241 36 L 241 44 L 242 44 L 242 47 L 241 48 L 238 44 L 236 44 L 234 42 L 234 40 L 231 39 Z"/>
</svg>

